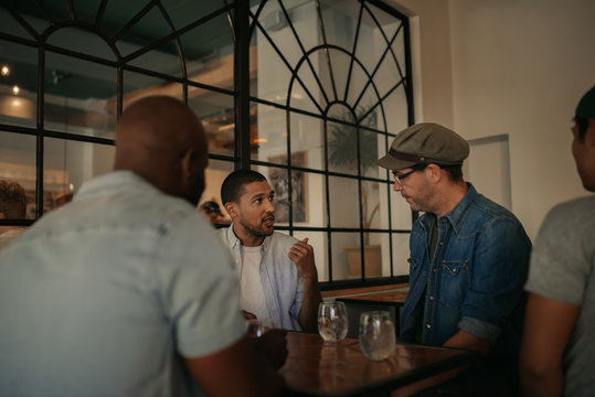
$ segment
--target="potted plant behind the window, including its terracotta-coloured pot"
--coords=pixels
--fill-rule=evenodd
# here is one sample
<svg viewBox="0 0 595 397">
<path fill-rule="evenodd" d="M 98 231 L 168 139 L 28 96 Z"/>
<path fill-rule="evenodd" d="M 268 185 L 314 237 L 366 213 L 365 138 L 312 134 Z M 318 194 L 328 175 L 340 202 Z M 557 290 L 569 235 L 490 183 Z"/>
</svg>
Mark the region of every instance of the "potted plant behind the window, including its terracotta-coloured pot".
<svg viewBox="0 0 595 397">
<path fill-rule="evenodd" d="M 369 111 L 366 107 L 355 109 L 355 117 L 361 119 Z M 350 111 L 344 110 L 338 117 L 341 120 L 355 124 Z M 372 111 L 361 126 L 376 128 L 376 112 Z M 353 126 L 333 124 L 329 129 L 329 163 L 336 167 L 349 168 L 357 171 L 358 168 L 358 131 Z M 362 133 L 360 130 L 360 173 L 364 174 L 366 170 L 376 168 L 378 160 L 378 136 L 375 133 Z M 374 183 L 371 189 L 378 190 L 378 184 Z M 369 228 L 372 225 L 376 213 L 380 210 L 380 203 L 372 208 L 369 207 L 369 198 L 371 192 L 362 185 L 362 228 Z M 382 276 L 381 249 L 379 244 L 370 245 L 370 234 L 363 234 L 363 251 L 366 277 Z M 347 257 L 349 262 L 349 276 L 351 278 L 361 277 L 361 250 L 360 245 L 346 246 Z"/>
</svg>

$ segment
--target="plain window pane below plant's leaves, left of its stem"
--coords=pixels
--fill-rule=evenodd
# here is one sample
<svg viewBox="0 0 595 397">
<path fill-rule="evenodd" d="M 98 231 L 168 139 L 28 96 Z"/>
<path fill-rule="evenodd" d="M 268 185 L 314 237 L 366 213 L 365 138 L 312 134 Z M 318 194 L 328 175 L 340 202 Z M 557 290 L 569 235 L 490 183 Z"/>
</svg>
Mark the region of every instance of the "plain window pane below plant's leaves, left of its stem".
<svg viewBox="0 0 595 397">
<path fill-rule="evenodd" d="M 358 180 L 329 176 L 330 225 L 360 227 Z"/>
</svg>

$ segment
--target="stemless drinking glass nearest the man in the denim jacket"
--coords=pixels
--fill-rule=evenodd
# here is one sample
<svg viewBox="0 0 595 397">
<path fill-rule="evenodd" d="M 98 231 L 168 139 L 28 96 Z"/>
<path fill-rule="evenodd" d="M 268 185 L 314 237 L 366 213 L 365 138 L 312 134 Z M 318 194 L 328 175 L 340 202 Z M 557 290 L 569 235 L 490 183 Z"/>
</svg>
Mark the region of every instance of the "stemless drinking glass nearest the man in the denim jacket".
<svg viewBox="0 0 595 397">
<path fill-rule="evenodd" d="M 360 346 L 370 360 L 385 360 L 394 353 L 394 324 L 387 311 L 363 312 L 360 316 Z"/>
</svg>

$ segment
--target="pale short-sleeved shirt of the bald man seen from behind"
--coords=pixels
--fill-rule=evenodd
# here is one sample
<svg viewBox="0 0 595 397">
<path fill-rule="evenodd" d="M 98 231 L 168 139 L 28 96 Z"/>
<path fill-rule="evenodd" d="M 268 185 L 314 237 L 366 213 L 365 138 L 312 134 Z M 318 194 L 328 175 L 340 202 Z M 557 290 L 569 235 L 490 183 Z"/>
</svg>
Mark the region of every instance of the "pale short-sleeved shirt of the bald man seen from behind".
<svg viewBox="0 0 595 397">
<path fill-rule="evenodd" d="M 245 332 L 233 261 L 188 202 L 85 183 L 0 255 L 0 396 L 183 396 L 182 356 Z"/>
</svg>

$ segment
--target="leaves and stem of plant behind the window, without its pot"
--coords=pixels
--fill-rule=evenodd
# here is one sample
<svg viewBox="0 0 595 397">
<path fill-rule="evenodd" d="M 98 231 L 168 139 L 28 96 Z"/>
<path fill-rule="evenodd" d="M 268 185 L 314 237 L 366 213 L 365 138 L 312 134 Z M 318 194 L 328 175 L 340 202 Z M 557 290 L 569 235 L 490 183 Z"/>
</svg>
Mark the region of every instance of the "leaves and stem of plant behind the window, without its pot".
<svg viewBox="0 0 595 397">
<path fill-rule="evenodd" d="M 369 107 L 359 107 L 355 109 L 355 120 L 353 115 L 349 110 L 343 110 L 334 118 L 348 121 L 351 124 L 359 124 L 363 127 L 376 128 L 378 119 L 376 112 L 371 111 L 365 119 L 362 117 L 368 114 Z M 360 173 L 365 174 L 368 170 L 375 169 L 378 160 L 378 135 L 375 132 L 360 129 Z M 329 163 L 336 167 L 344 167 L 351 171 L 358 170 L 358 129 L 354 126 L 342 125 L 333 122 L 329 129 Z M 378 184 L 373 184 L 372 189 L 378 189 Z M 373 208 L 368 208 L 368 198 L 370 192 L 364 184 L 362 184 L 362 227 L 368 228 L 374 216 L 380 210 L 380 203 Z M 364 234 L 364 244 L 368 245 L 370 236 Z"/>
</svg>

